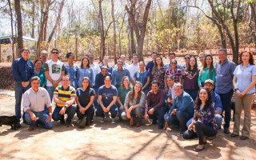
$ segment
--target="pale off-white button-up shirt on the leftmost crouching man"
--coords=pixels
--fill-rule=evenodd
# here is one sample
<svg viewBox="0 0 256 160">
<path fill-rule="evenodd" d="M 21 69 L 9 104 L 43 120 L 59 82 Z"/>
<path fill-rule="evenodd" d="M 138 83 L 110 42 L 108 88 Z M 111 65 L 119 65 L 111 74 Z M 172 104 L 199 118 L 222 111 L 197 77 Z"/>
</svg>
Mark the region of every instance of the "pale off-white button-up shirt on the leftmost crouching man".
<svg viewBox="0 0 256 160">
<path fill-rule="evenodd" d="M 26 90 L 22 97 L 22 107 L 24 111 L 33 110 L 34 112 L 42 112 L 47 107 L 51 106 L 50 95 L 47 90 L 39 87 L 38 91 L 35 92 L 33 88 Z"/>
</svg>

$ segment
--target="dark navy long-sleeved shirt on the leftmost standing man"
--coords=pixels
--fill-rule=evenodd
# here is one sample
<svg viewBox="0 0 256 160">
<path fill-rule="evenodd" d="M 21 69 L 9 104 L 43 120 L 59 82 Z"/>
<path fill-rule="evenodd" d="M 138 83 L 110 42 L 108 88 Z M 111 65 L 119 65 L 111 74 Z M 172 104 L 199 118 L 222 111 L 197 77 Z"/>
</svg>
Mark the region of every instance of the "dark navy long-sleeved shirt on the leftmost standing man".
<svg viewBox="0 0 256 160">
<path fill-rule="evenodd" d="M 29 59 L 17 58 L 13 64 L 13 74 L 16 82 L 27 82 L 34 77 L 34 64 Z"/>
</svg>

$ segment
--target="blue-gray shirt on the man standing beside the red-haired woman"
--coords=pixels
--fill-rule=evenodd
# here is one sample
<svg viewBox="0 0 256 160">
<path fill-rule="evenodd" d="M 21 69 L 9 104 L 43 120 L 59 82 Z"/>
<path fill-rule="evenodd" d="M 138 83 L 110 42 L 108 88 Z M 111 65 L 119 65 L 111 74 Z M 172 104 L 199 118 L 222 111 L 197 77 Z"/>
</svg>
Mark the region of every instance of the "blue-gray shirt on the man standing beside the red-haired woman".
<svg viewBox="0 0 256 160">
<path fill-rule="evenodd" d="M 218 94 L 226 94 L 233 89 L 233 72 L 236 65 L 226 58 L 222 62 L 216 63 L 216 84 L 215 92 Z"/>
</svg>

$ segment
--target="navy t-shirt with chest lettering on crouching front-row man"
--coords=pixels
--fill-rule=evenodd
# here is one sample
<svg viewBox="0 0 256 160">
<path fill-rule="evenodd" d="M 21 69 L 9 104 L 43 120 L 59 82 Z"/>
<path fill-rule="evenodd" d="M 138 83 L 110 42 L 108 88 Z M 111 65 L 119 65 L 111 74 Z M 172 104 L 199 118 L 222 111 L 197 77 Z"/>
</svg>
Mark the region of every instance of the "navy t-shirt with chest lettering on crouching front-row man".
<svg viewBox="0 0 256 160">
<path fill-rule="evenodd" d="M 102 102 L 104 106 L 109 106 L 113 101 L 113 96 L 118 96 L 118 90 L 115 86 L 111 85 L 110 88 L 101 86 L 98 89 L 98 95 L 102 96 Z"/>
</svg>

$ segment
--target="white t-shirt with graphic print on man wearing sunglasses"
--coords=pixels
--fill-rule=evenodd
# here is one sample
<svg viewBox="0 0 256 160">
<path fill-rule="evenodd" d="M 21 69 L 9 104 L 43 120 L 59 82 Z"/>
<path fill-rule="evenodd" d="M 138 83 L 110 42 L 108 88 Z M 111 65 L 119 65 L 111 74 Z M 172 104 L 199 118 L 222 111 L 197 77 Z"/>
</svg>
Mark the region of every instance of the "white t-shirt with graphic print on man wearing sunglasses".
<svg viewBox="0 0 256 160">
<path fill-rule="evenodd" d="M 65 71 L 64 63 L 61 61 L 54 62 L 53 60 L 46 61 L 43 70 L 49 71 L 50 77 L 57 81 L 62 76 L 62 71 Z M 61 86 L 62 82 L 58 83 Z M 47 79 L 46 86 L 53 86 L 53 84 Z"/>
</svg>

